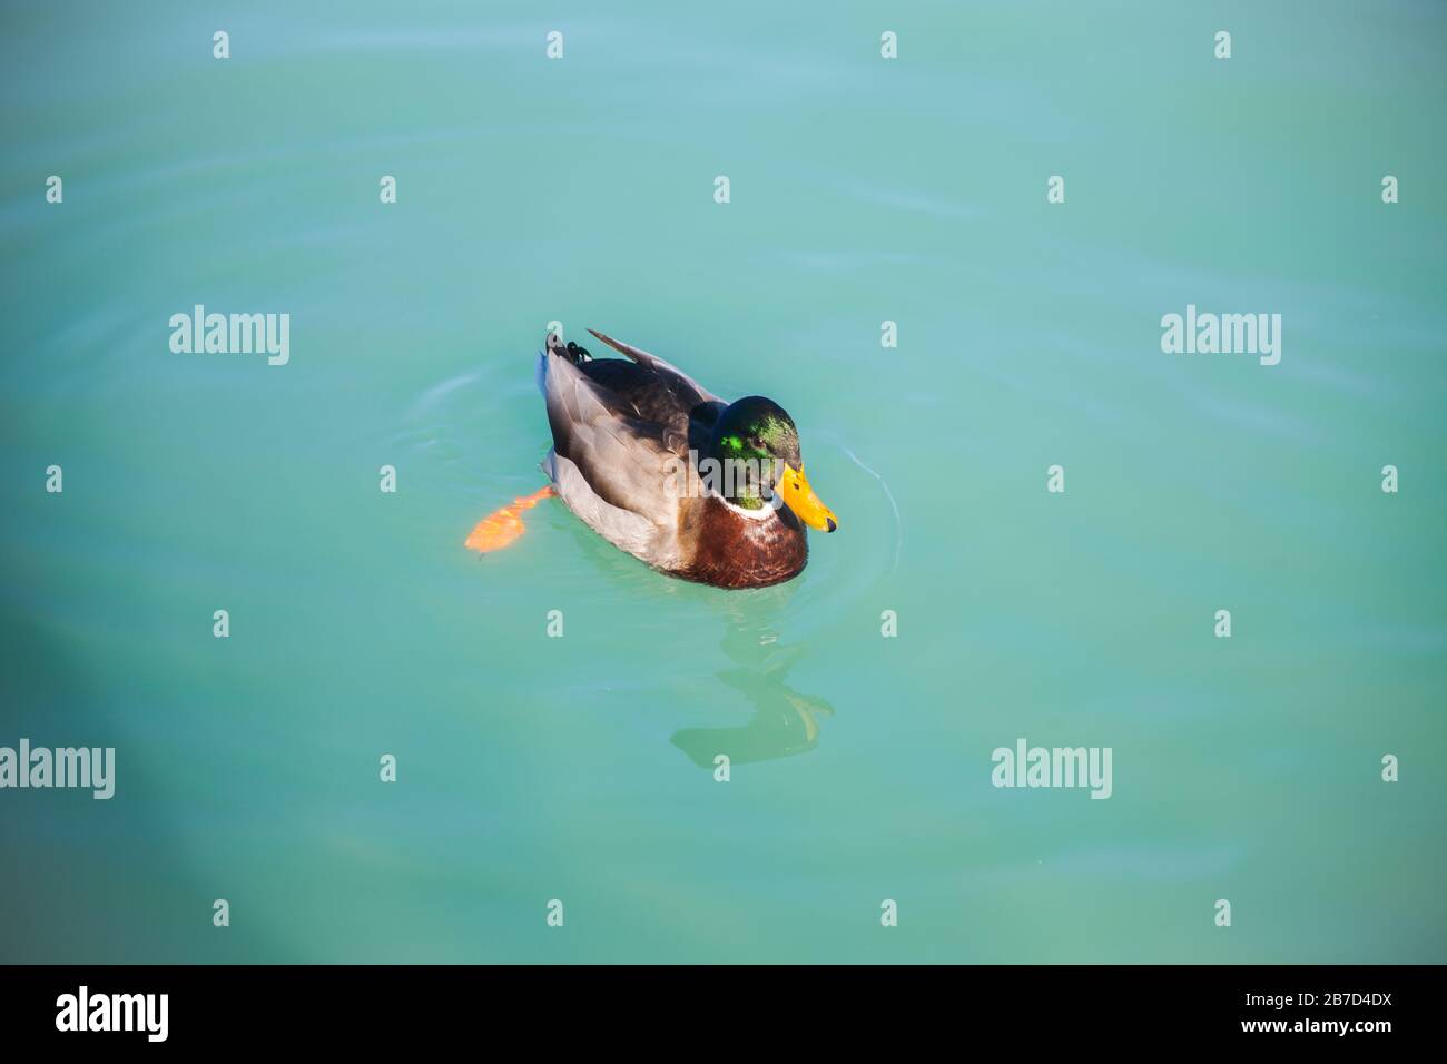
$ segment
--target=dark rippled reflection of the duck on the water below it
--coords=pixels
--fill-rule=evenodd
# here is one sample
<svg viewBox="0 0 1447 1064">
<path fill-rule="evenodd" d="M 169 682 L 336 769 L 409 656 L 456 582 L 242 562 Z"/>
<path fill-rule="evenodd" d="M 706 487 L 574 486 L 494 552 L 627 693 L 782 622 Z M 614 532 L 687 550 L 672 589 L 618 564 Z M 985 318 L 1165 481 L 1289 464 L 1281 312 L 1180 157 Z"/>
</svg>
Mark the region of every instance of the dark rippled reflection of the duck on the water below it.
<svg viewBox="0 0 1447 1064">
<path fill-rule="evenodd" d="M 674 732 L 673 746 L 699 767 L 710 770 L 719 754 L 726 754 L 734 766 L 812 750 L 819 741 L 819 719 L 832 717 L 833 706 L 784 682 L 803 657 L 803 647 L 786 647 L 771 625 L 750 622 L 738 611 L 729 612 L 724 653 L 738 666 L 724 669 L 718 677 L 739 693 L 752 717 L 735 727 L 683 728 Z"/>
</svg>

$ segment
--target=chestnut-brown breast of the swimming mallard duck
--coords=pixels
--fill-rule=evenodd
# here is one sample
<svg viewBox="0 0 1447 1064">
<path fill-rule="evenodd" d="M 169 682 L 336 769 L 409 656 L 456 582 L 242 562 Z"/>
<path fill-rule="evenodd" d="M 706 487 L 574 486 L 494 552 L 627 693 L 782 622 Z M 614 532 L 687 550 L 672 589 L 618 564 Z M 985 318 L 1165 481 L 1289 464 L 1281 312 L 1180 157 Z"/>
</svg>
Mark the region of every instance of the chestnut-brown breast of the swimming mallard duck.
<svg viewBox="0 0 1447 1064">
<path fill-rule="evenodd" d="M 805 528 L 787 507 L 764 520 L 735 512 L 716 497 L 684 499 L 679 512 L 683 565 L 676 576 L 715 588 L 767 588 L 803 572 Z"/>
</svg>

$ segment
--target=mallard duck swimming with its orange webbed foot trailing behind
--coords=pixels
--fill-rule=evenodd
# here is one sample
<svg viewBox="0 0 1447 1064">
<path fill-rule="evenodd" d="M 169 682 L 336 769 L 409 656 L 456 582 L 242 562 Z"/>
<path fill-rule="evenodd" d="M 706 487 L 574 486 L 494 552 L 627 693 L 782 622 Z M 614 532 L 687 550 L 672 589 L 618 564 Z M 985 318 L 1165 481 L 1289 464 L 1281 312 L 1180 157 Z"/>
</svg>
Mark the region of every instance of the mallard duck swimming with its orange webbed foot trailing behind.
<svg viewBox="0 0 1447 1064">
<path fill-rule="evenodd" d="M 466 546 L 508 546 L 521 511 L 556 497 L 667 576 L 744 589 L 802 573 L 807 528 L 839 521 L 809 485 L 789 413 L 763 395 L 725 402 L 664 359 L 587 332 L 624 358 L 547 336 L 537 384 L 553 433 L 548 485 L 485 517 Z"/>
</svg>

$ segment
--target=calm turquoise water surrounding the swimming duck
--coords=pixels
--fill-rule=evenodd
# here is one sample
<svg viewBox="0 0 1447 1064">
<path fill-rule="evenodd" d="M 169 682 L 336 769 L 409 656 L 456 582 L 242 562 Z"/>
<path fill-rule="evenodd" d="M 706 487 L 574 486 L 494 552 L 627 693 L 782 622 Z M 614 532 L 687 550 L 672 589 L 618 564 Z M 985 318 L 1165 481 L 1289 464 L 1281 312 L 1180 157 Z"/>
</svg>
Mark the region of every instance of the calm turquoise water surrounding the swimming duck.
<svg viewBox="0 0 1447 1064">
<path fill-rule="evenodd" d="M 117 779 L 0 792 L 0 958 L 1444 958 L 1440 4 L 3 20 L 0 746 Z M 553 320 L 793 414 L 803 576 L 462 547 Z"/>
</svg>

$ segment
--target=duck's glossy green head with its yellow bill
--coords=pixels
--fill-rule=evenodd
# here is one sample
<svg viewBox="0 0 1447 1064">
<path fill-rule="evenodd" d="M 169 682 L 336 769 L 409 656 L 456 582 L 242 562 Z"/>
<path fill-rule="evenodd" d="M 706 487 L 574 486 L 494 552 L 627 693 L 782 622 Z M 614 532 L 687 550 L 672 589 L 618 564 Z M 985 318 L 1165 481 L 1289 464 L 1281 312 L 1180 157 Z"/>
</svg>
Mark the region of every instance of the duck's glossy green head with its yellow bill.
<svg viewBox="0 0 1447 1064">
<path fill-rule="evenodd" d="M 731 402 L 713 426 L 708 457 L 718 459 L 729 473 L 722 492 L 729 502 L 760 510 L 777 494 L 810 528 L 839 527 L 805 478 L 794 420 L 773 400 L 750 395 Z"/>
</svg>

